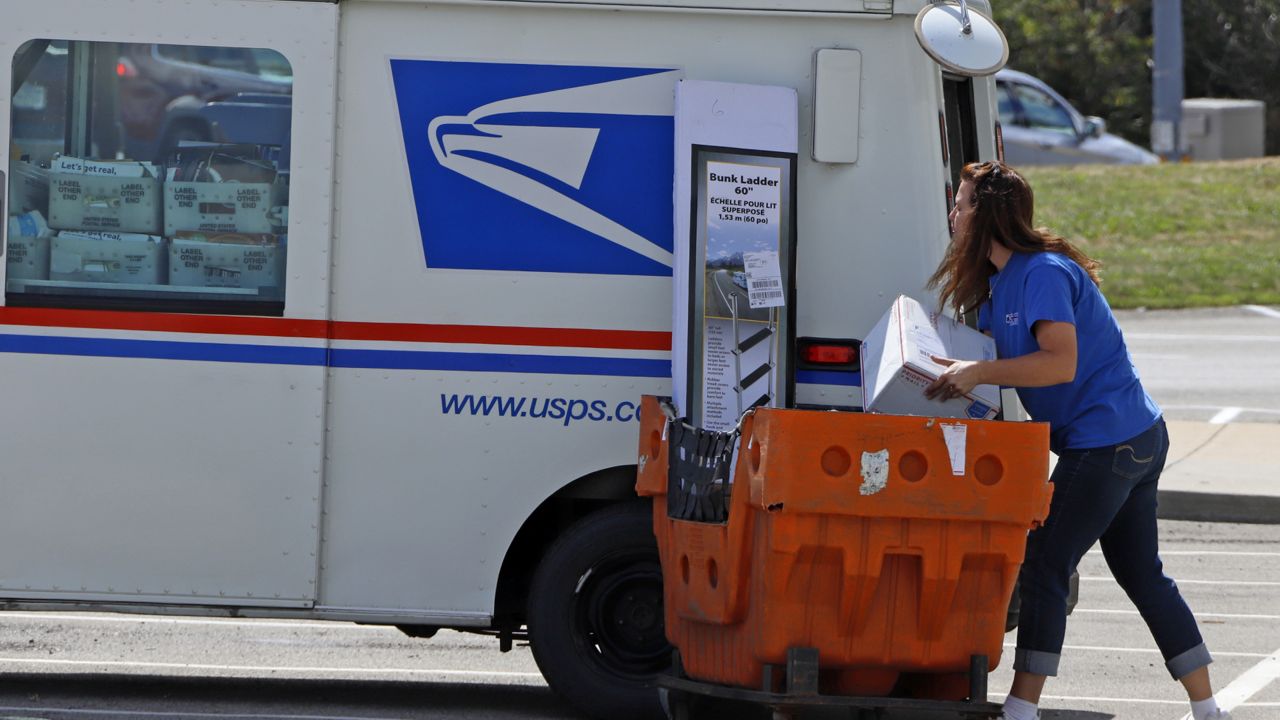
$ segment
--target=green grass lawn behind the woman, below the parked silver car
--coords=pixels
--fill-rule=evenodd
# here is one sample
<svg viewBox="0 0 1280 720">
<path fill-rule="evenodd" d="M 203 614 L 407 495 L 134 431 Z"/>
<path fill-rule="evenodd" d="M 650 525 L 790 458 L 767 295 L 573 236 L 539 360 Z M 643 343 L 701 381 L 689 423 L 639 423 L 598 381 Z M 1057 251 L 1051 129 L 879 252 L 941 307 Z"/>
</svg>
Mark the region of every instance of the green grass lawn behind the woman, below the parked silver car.
<svg viewBox="0 0 1280 720">
<path fill-rule="evenodd" d="M 1112 307 L 1280 305 L 1280 158 L 1021 170 Z"/>
</svg>

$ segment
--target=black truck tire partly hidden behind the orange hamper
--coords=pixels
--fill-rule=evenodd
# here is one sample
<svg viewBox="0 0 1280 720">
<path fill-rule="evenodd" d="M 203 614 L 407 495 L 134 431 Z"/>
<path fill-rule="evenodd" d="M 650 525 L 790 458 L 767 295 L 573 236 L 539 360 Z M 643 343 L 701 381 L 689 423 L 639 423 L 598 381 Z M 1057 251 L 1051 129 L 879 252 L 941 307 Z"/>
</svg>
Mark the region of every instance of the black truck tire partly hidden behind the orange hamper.
<svg viewBox="0 0 1280 720">
<path fill-rule="evenodd" d="M 529 591 L 529 642 L 547 683 L 605 720 L 662 717 L 654 679 L 671 666 L 662 566 L 648 502 L 570 527 Z"/>
</svg>

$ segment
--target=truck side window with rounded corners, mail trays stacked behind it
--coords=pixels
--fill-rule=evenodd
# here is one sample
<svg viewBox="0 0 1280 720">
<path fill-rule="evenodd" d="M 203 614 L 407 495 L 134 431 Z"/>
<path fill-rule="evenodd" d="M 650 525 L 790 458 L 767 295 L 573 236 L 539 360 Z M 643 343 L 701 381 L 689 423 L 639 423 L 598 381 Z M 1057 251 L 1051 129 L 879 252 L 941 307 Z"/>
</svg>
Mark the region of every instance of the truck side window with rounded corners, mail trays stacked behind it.
<svg viewBox="0 0 1280 720">
<path fill-rule="evenodd" d="M 282 54 L 32 40 L 12 72 L 9 305 L 283 315 Z"/>
</svg>

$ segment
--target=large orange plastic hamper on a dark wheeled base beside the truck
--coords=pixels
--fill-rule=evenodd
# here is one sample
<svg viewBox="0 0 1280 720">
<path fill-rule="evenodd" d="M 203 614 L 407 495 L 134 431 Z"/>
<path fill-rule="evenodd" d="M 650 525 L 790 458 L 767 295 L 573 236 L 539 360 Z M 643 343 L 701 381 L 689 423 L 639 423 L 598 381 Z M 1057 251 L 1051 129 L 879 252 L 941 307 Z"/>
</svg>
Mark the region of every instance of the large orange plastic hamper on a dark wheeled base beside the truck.
<svg viewBox="0 0 1280 720">
<path fill-rule="evenodd" d="M 960 700 L 1000 661 L 1027 532 L 1048 514 L 1048 427 L 759 409 L 728 520 L 667 516 L 667 418 L 641 406 L 667 637 L 694 679 L 759 688 L 788 647 L 820 689 Z"/>
</svg>

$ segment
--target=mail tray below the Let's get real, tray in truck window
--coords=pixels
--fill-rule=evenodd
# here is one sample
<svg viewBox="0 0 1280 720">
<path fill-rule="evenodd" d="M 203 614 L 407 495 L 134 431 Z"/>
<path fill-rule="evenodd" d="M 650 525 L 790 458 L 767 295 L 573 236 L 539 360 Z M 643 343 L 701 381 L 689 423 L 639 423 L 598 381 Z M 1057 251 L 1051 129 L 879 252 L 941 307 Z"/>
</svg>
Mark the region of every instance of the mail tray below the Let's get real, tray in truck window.
<svg viewBox="0 0 1280 720">
<path fill-rule="evenodd" d="M 49 246 L 49 279 L 165 284 L 164 245 L 146 234 L 61 232 Z"/>
</svg>

